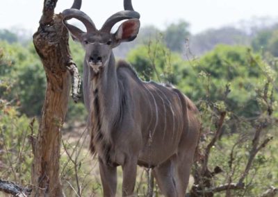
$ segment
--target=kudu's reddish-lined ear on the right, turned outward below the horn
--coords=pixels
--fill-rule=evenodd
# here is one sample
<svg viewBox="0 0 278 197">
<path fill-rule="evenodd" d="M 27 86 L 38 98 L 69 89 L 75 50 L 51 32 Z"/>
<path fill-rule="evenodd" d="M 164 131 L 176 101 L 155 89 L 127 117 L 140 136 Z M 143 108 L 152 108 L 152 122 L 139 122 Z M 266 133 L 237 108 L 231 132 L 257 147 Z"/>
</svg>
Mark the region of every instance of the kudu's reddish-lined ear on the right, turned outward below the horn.
<svg viewBox="0 0 278 197">
<path fill-rule="evenodd" d="M 130 42 L 136 39 L 140 28 L 139 19 L 129 19 L 123 22 L 115 33 L 118 42 Z"/>
</svg>

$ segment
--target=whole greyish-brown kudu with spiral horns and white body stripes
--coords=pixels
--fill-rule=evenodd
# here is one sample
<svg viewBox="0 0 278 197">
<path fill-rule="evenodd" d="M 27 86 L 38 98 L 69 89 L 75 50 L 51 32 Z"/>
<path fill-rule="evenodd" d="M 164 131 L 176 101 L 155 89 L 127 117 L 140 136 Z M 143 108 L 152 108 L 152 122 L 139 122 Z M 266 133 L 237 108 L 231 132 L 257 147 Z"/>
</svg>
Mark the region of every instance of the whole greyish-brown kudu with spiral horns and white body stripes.
<svg viewBox="0 0 278 197">
<path fill-rule="evenodd" d="M 115 196 L 117 166 L 122 166 L 122 195 L 130 196 L 137 164 L 153 168 L 165 196 L 185 196 L 199 136 L 197 108 L 174 87 L 142 82 L 131 66 L 115 62 L 112 49 L 136 38 L 140 22 L 131 0 L 97 30 L 79 10 L 64 10 L 64 21 L 79 19 L 87 32 L 65 22 L 85 49 L 83 94 L 88 109 L 90 151 L 97 153 L 104 196 Z M 126 19 L 115 33 L 111 28 Z"/>
</svg>

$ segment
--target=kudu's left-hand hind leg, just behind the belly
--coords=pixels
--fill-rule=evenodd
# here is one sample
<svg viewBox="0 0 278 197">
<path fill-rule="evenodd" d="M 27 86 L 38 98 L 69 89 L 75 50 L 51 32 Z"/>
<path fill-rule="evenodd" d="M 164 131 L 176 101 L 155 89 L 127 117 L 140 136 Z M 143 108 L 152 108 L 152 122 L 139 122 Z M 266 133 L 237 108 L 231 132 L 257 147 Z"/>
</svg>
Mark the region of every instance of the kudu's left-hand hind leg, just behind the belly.
<svg viewBox="0 0 278 197">
<path fill-rule="evenodd" d="M 153 173 L 163 195 L 167 197 L 176 197 L 177 187 L 174 180 L 174 164 L 172 160 L 167 160 L 160 166 L 155 167 Z"/>
</svg>

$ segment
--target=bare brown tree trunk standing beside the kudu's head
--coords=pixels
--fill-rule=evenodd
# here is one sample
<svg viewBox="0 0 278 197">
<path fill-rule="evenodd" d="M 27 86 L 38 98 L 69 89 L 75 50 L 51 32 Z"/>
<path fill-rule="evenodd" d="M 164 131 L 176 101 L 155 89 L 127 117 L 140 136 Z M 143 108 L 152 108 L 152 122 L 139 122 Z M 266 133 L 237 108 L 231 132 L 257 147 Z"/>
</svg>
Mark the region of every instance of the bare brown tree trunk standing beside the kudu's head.
<svg viewBox="0 0 278 197">
<path fill-rule="evenodd" d="M 54 15 L 57 0 L 44 0 L 40 27 L 33 35 L 47 77 L 38 136 L 33 138 L 32 196 L 63 196 L 59 178 L 61 132 L 70 94 L 74 62 L 62 17 Z M 76 67 L 75 67 L 76 68 Z M 77 70 L 77 69 L 75 69 Z"/>
</svg>

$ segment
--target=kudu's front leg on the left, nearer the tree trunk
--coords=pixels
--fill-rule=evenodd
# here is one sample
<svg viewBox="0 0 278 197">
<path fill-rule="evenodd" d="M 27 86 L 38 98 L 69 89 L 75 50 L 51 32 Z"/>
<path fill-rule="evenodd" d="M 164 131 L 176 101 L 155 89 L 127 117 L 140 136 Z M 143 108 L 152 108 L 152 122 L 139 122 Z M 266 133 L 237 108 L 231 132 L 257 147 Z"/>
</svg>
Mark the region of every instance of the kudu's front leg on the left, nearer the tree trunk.
<svg viewBox="0 0 278 197">
<path fill-rule="evenodd" d="M 99 158 L 99 171 L 104 196 L 115 196 L 117 191 L 117 167 L 108 166 Z"/>
</svg>

